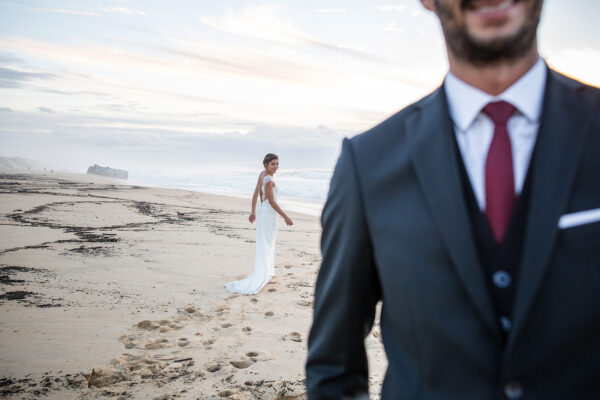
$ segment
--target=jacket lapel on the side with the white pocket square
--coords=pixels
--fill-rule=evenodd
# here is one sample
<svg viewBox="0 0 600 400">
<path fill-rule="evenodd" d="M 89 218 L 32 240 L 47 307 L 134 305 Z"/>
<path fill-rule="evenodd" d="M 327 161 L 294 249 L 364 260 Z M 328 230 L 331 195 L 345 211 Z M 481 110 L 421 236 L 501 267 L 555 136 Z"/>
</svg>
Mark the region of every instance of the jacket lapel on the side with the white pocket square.
<svg viewBox="0 0 600 400">
<path fill-rule="evenodd" d="M 533 168 L 529 216 L 513 310 L 509 350 L 522 330 L 548 268 L 558 234 L 558 220 L 566 211 L 592 106 L 577 102 L 576 91 L 549 71 Z"/>
</svg>

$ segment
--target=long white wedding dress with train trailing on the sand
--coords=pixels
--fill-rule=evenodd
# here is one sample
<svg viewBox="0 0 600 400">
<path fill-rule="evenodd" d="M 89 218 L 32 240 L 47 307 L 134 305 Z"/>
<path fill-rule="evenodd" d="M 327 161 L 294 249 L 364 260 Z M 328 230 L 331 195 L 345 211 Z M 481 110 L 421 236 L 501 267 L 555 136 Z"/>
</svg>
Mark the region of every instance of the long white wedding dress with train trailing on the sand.
<svg viewBox="0 0 600 400">
<path fill-rule="evenodd" d="M 275 236 L 277 235 L 277 213 L 265 195 L 265 185 L 273 182 L 273 177 L 265 175 L 262 181 L 264 201 L 261 201 L 256 215 L 256 256 L 254 271 L 246 279 L 229 282 L 225 289 L 240 294 L 256 294 L 275 276 Z M 278 189 L 273 186 L 273 197 L 277 201 Z"/>
</svg>

